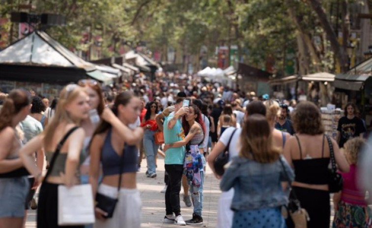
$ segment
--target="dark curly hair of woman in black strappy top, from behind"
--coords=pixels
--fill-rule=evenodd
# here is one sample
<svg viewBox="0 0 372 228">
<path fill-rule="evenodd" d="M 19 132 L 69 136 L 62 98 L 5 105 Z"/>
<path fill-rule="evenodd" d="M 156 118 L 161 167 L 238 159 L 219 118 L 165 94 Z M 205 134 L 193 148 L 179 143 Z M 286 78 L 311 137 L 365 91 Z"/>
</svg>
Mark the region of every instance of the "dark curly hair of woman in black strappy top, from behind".
<svg viewBox="0 0 372 228">
<path fill-rule="evenodd" d="M 310 135 L 324 133 L 320 110 L 310 101 L 301 101 L 297 105 L 292 114 L 292 122 L 297 133 Z"/>
</svg>

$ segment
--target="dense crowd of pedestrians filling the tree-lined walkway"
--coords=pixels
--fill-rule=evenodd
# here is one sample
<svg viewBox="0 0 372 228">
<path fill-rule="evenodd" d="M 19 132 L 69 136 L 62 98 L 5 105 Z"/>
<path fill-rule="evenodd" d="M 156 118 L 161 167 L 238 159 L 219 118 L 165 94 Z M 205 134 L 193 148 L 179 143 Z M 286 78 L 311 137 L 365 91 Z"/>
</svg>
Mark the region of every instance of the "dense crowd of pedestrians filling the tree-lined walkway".
<svg viewBox="0 0 372 228">
<path fill-rule="evenodd" d="M 107 88 L 81 80 L 65 86 L 50 106 L 22 89 L 1 94 L 0 228 L 24 227 L 29 208 L 37 208 L 38 228 L 63 227 L 58 189 L 84 184 L 96 201 L 95 222 L 69 227 L 139 228 L 137 172 L 144 156 L 145 176 L 156 177 L 158 155 L 166 171 L 164 223 L 203 224 L 210 168 L 221 180 L 218 228 L 296 227 L 288 205 L 294 199 L 308 228 L 329 227 L 334 163 L 343 184 L 333 195 L 333 227 L 372 227 L 368 186 L 361 181 L 366 175 L 358 176 L 366 166 L 360 157 L 370 151 L 354 104 L 346 105 L 335 140 L 324 134 L 312 102 L 287 105 L 218 83 L 176 81 L 138 77 Z M 215 169 L 221 155 L 228 155 L 223 175 Z M 181 214 L 180 198 L 193 206 L 192 215 Z"/>
</svg>

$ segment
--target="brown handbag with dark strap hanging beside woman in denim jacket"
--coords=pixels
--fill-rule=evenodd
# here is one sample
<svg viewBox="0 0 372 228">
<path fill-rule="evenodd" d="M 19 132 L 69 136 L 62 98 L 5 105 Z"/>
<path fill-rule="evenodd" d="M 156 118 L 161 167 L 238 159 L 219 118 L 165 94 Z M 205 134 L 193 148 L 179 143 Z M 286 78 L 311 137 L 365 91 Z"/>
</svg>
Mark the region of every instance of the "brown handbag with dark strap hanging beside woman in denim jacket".
<svg viewBox="0 0 372 228">
<path fill-rule="evenodd" d="M 305 208 L 301 208 L 300 200 L 298 200 L 295 192 L 292 191 L 291 183 L 289 181 L 284 163 L 281 158 L 279 158 L 279 161 L 282 164 L 284 175 L 288 180 L 290 191 L 288 197 L 289 202 L 288 205 L 285 206 L 286 211 L 289 212 L 289 217 L 287 217 L 286 223 L 293 224 L 295 228 L 307 228 L 308 221 L 310 221 L 309 214 Z"/>
</svg>

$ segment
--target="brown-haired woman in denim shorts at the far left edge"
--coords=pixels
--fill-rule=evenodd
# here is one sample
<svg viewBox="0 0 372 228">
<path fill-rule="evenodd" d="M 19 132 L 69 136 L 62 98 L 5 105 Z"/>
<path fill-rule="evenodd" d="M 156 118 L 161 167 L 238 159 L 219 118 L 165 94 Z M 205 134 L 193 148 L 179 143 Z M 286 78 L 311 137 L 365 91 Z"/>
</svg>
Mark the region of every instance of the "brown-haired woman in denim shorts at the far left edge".
<svg viewBox="0 0 372 228">
<path fill-rule="evenodd" d="M 22 135 L 16 127 L 29 114 L 30 103 L 26 91 L 12 90 L 0 111 L 0 228 L 24 224 L 29 172 L 19 157 Z"/>
</svg>

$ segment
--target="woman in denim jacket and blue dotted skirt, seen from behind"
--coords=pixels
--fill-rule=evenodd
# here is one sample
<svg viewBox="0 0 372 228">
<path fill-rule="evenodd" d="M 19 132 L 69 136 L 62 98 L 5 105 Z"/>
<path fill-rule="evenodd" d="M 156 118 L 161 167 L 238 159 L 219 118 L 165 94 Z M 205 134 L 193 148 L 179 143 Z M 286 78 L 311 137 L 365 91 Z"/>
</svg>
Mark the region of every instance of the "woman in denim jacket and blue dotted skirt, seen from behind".
<svg viewBox="0 0 372 228">
<path fill-rule="evenodd" d="M 288 198 L 281 182 L 291 182 L 293 170 L 272 144 L 271 128 L 265 116 L 250 115 L 240 136 L 241 149 L 232 158 L 220 187 L 234 188 L 232 228 L 285 228 L 281 207 Z"/>
</svg>

